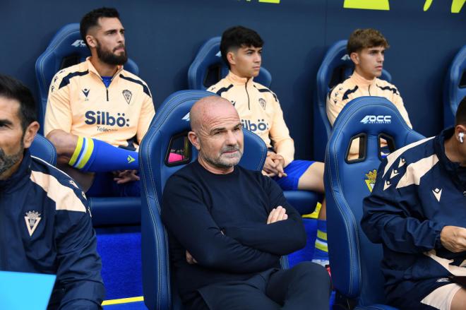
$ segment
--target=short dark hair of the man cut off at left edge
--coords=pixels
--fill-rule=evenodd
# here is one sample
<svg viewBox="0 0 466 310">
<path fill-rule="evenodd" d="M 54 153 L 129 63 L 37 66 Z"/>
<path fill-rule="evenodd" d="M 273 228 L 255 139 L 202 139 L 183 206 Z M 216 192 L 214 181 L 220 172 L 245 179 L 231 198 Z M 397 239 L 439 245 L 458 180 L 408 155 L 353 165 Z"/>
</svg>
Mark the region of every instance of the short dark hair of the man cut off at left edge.
<svg viewBox="0 0 466 310">
<path fill-rule="evenodd" d="M 23 132 L 32 121 L 37 121 L 34 97 L 32 97 L 29 88 L 16 80 L 16 78 L 0 74 L 0 97 L 19 102 L 20 109 L 18 111 L 18 117 L 21 121 Z"/>
</svg>

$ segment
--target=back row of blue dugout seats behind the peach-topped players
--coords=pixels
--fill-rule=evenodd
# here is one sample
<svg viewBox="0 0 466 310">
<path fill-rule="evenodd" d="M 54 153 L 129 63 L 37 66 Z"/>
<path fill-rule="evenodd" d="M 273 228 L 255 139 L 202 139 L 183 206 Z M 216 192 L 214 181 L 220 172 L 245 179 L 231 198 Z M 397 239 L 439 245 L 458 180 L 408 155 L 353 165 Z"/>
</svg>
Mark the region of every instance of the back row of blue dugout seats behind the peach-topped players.
<svg viewBox="0 0 466 310">
<path fill-rule="evenodd" d="M 323 160 L 323 148 L 330 136 L 331 126 L 325 111 L 325 97 L 330 88 L 345 80 L 352 73 L 353 64 L 346 52 L 346 40 L 335 42 L 325 54 L 317 74 L 315 100 L 313 104 L 313 145 L 314 160 Z M 52 38 L 47 49 L 37 59 L 35 65 L 37 85 L 40 94 L 39 117 L 43 124 L 44 112 L 47 106 L 49 85 L 54 74 L 73 64 L 78 64 L 90 52 L 81 40 L 79 24 L 71 23 L 61 28 Z M 466 94 L 466 47 L 463 47 L 455 57 L 446 78 L 445 120 L 453 124 L 453 115 L 460 98 Z M 139 69 L 134 61 L 129 59 L 126 70 L 138 74 Z M 213 37 L 199 49 L 188 71 L 190 89 L 205 90 L 228 73 L 227 66 L 220 55 L 220 37 Z M 382 78 L 391 81 L 390 73 L 383 71 Z M 463 80 L 463 81 L 462 81 Z M 272 76 L 265 68 L 261 68 L 258 83 L 270 87 Z M 318 134 L 321 133 L 321 134 Z M 289 203 L 301 214 L 311 213 L 316 202 L 321 198 L 311 191 L 285 191 Z M 91 197 L 90 206 L 94 213 L 95 225 L 138 224 L 141 221 L 141 201 L 139 198 L 95 198 Z M 111 214 L 111 216 L 109 216 Z"/>
</svg>

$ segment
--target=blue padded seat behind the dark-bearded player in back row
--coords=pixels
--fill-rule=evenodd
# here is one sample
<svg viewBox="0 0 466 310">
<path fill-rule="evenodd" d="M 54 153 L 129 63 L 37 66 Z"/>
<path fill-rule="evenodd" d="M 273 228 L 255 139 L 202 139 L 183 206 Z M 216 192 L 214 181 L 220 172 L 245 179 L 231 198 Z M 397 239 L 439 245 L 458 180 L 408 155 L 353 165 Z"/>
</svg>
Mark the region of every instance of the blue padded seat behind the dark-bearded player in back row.
<svg viewBox="0 0 466 310">
<path fill-rule="evenodd" d="M 60 69 L 73 66 L 90 56 L 90 51 L 81 39 L 79 24 L 64 25 L 35 62 L 35 75 L 39 88 L 39 121 L 43 133 L 44 114 L 47 107 L 49 85 Z M 139 68 L 128 59 L 124 68 L 138 74 Z M 97 225 L 138 224 L 141 222 L 141 198 L 93 198 L 88 199 L 92 210 L 92 223 Z"/>
</svg>

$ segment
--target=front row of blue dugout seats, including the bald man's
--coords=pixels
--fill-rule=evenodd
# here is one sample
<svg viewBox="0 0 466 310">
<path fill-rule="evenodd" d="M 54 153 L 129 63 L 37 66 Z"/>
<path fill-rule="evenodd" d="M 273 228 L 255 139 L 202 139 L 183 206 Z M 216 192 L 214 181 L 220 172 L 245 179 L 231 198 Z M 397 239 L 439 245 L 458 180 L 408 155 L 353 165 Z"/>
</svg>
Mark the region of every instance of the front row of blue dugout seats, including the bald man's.
<svg viewBox="0 0 466 310">
<path fill-rule="evenodd" d="M 142 180 L 142 263 L 143 293 L 148 309 L 183 309 L 177 285 L 171 276 L 167 232 L 160 219 L 160 203 L 165 182 L 184 165 L 196 160 L 196 149 L 189 147 L 186 160 L 170 165 L 168 152 L 178 133 L 189 130 L 183 120 L 191 106 L 211 95 L 202 90 L 184 90 L 170 95 L 159 109 L 146 138 L 141 143 L 139 159 Z M 388 124 L 364 124 L 368 114 L 390 116 Z M 181 120 L 181 121 L 180 121 Z M 362 199 L 369 195 L 367 174 L 380 165 L 380 137 L 392 139 L 392 150 L 424 138 L 412 131 L 388 100 L 381 97 L 360 97 L 342 110 L 330 133 L 325 150 L 325 195 L 328 214 L 328 246 L 332 280 L 337 291 L 337 306 L 348 309 L 393 309 L 384 305 L 383 275 L 380 270 L 381 246 L 371 244 L 362 233 Z M 260 171 L 267 148 L 255 134 L 244 130 L 244 157 L 239 165 Z M 347 161 L 346 150 L 352 138 L 364 138 L 364 156 Z M 31 147 L 52 165 L 56 162 L 53 146 L 37 136 Z M 282 259 L 287 268 L 287 259 Z"/>
</svg>

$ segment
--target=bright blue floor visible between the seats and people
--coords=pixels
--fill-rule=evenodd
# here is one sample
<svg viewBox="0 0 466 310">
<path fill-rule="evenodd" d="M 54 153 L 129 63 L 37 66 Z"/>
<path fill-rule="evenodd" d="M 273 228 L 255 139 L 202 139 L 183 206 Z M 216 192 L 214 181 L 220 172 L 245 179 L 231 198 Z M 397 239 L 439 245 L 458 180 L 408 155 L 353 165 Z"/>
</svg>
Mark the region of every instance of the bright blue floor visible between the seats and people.
<svg viewBox="0 0 466 310">
<path fill-rule="evenodd" d="M 310 261 L 316 240 L 317 221 L 304 218 L 307 244 L 288 256 L 289 266 Z M 102 278 L 107 290 L 105 300 L 143 296 L 141 275 L 140 227 L 98 228 L 97 251 L 102 257 Z M 334 294 L 333 294 L 334 295 Z M 330 304 L 333 304 L 333 298 Z M 144 302 L 129 302 L 104 306 L 105 310 L 146 309 Z"/>
</svg>

